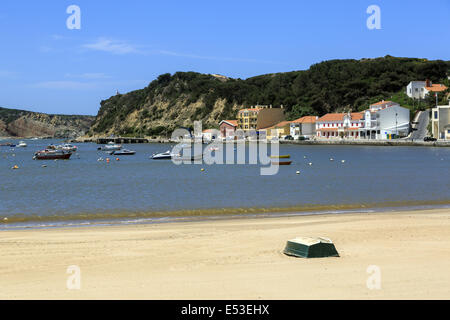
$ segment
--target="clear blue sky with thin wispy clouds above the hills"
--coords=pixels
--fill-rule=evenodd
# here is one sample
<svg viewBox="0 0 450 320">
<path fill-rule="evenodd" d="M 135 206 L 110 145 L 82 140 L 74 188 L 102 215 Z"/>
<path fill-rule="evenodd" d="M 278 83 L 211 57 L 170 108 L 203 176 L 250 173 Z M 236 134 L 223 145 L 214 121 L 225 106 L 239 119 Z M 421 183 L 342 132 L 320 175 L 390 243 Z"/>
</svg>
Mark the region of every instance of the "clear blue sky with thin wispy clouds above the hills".
<svg viewBox="0 0 450 320">
<path fill-rule="evenodd" d="M 69 5 L 81 29 L 69 30 Z M 381 30 L 369 30 L 370 5 Z M 450 0 L 2 0 L 0 106 L 92 114 L 176 71 L 247 78 L 329 59 L 450 60 Z"/>
</svg>

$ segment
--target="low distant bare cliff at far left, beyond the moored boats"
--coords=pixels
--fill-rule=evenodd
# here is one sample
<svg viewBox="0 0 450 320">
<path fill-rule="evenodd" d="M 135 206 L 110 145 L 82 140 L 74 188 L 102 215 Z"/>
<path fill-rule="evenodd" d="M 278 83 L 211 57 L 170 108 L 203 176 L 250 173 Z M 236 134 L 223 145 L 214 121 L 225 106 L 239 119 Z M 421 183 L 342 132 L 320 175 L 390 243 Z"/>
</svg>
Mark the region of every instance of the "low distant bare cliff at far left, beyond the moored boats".
<svg viewBox="0 0 450 320">
<path fill-rule="evenodd" d="M 0 108 L 0 136 L 75 138 L 84 135 L 94 119 L 93 116 L 49 115 Z"/>
</svg>

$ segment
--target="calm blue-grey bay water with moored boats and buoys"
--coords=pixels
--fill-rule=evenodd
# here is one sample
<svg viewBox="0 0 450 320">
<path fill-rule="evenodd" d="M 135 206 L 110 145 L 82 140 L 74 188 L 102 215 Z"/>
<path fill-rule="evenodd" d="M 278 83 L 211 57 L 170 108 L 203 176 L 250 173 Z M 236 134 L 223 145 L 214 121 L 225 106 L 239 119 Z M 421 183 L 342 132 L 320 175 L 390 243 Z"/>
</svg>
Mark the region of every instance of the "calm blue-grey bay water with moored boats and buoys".
<svg viewBox="0 0 450 320">
<path fill-rule="evenodd" d="M 137 154 L 120 161 L 111 157 L 109 164 L 97 161 L 107 155 L 96 144 L 78 144 L 69 161 L 33 161 L 36 150 L 60 141 L 26 142 L 22 149 L 0 147 L 0 217 L 8 217 L 7 225 L 151 217 L 155 212 L 182 216 L 192 214 L 186 210 L 204 214 L 224 208 L 244 213 L 247 208 L 450 202 L 448 148 L 282 145 L 280 154 L 290 154 L 293 164 L 280 167 L 277 175 L 261 176 L 259 165 L 176 166 L 150 160 L 171 147 L 164 144 L 127 145 Z M 20 169 L 11 170 L 14 165 Z"/>
</svg>

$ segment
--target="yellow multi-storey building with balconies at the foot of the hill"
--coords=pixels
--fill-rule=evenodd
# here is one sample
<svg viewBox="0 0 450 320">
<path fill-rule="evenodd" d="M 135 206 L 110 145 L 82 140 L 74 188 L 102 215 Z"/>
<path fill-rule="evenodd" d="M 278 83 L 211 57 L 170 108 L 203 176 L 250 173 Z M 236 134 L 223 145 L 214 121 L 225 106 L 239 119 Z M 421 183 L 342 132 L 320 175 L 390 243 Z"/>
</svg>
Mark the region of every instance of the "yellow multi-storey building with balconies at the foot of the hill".
<svg viewBox="0 0 450 320">
<path fill-rule="evenodd" d="M 284 120 L 284 110 L 272 106 L 256 106 L 238 112 L 238 129 L 260 130 L 276 125 Z"/>
</svg>

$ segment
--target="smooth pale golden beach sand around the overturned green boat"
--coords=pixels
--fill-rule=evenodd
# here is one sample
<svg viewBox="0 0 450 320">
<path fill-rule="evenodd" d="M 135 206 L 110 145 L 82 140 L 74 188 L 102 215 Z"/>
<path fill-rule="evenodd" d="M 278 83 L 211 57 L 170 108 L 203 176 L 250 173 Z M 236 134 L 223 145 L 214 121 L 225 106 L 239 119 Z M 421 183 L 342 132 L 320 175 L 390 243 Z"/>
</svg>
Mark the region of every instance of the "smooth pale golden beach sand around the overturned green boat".
<svg viewBox="0 0 450 320">
<path fill-rule="evenodd" d="M 285 256 L 297 236 L 341 257 Z M 0 250 L 0 299 L 450 298 L 450 209 L 4 231 Z"/>
</svg>

